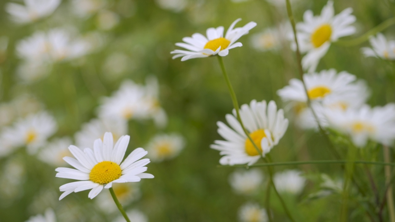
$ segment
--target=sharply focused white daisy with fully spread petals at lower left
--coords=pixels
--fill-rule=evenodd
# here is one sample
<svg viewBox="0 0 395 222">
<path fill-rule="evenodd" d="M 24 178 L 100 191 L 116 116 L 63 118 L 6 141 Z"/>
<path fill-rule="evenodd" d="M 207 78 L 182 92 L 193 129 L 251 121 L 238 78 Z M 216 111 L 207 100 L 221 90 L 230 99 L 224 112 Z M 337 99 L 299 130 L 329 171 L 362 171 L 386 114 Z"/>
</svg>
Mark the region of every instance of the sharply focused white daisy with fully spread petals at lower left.
<svg viewBox="0 0 395 222">
<path fill-rule="evenodd" d="M 79 149 L 70 145 L 69 150 L 76 158 L 64 157 L 63 159 L 75 167 L 75 169 L 58 167 L 56 177 L 79 180 L 60 186 L 60 195 L 63 199 L 72 192 L 90 190 L 88 198 L 96 197 L 103 188 L 111 188 L 113 183 L 139 182 L 143 178 L 154 178 L 147 171 L 145 165 L 149 164 L 149 159 L 142 159 L 147 155 L 143 148 L 132 151 L 122 162 L 129 144 L 129 135 L 121 136 L 117 143 L 113 145 L 113 135 L 109 132 L 104 134 L 104 139 L 96 139 L 93 149 Z"/>
</svg>

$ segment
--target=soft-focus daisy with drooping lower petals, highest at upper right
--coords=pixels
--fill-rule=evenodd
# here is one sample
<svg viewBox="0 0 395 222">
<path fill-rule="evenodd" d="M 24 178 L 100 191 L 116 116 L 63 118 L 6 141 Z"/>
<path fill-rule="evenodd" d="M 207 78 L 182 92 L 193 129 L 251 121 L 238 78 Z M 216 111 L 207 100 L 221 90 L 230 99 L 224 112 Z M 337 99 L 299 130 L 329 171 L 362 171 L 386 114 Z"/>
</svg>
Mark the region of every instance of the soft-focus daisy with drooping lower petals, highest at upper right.
<svg viewBox="0 0 395 222">
<path fill-rule="evenodd" d="M 308 72 L 316 70 L 318 62 L 327 53 L 332 42 L 356 31 L 351 25 L 356 20 L 351 15 L 352 8 L 346 8 L 338 15 L 334 13 L 333 1 L 328 1 L 322 8 L 321 15 L 314 16 L 311 10 L 307 10 L 303 15 L 304 21 L 296 25 L 300 51 L 307 53 L 302 59 L 303 68 Z"/>
</svg>

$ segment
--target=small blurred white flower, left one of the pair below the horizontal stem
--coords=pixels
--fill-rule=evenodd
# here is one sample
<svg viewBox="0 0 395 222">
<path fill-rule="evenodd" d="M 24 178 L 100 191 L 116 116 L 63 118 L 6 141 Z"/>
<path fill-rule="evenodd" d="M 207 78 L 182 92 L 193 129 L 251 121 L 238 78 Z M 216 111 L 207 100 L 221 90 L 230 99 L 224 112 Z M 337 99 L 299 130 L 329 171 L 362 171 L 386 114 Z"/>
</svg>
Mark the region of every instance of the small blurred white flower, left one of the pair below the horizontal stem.
<svg viewBox="0 0 395 222">
<path fill-rule="evenodd" d="M 259 169 L 239 170 L 229 175 L 229 184 L 237 194 L 250 195 L 259 189 L 263 178 Z"/>
</svg>

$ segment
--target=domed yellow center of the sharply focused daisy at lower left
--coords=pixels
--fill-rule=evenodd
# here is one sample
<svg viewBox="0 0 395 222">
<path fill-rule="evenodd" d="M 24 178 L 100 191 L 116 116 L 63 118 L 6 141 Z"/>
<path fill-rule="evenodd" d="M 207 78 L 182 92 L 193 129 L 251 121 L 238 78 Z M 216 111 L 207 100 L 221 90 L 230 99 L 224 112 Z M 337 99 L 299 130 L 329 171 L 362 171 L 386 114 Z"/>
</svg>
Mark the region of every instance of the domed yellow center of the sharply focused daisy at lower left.
<svg viewBox="0 0 395 222">
<path fill-rule="evenodd" d="M 98 184 L 106 184 L 122 175 L 121 167 L 111 161 L 96 164 L 89 173 L 89 179 Z"/>
</svg>

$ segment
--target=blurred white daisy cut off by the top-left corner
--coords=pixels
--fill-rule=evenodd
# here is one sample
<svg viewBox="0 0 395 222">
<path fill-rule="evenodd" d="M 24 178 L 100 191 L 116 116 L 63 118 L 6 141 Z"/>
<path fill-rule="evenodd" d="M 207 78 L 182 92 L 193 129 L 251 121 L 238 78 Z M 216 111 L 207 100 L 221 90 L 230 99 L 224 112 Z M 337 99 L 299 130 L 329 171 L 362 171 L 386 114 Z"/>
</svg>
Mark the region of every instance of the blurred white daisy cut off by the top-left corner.
<svg viewBox="0 0 395 222">
<path fill-rule="evenodd" d="M 6 4 L 6 11 L 16 23 L 31 23 L 51 15 L 58 8 L 60 0 L 24 0 L 24 4 Z"/>
</svg>

